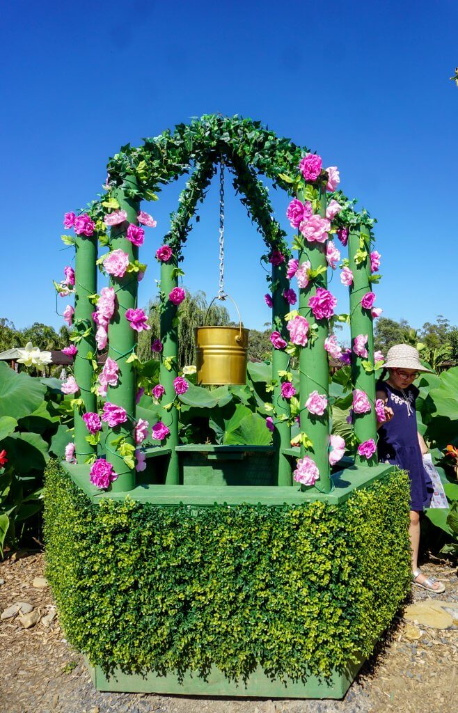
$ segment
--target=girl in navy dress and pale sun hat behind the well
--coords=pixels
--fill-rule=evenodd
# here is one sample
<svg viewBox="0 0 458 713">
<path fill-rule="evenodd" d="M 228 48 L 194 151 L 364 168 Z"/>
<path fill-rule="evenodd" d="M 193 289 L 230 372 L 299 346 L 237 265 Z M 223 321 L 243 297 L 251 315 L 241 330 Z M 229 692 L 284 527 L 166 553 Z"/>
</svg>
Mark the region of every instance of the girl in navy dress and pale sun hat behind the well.
<svg viewBox="0 0 458 713">
<path fill-rule="evenodd" d="M 385 421 L 378 424 L 378 459 L 382 463 L 394 463 L 409 473 L 410 478 L 410 543 L 412 547 L 412 580 L 415 585 L 438 594 L 444 585 L 433 577 L 427 578 L 418 568 L 420 544 L 420 513 L 430 503 L 432 483 L 423 467 L 422 455 L 427 446 L 417 431 L 415 399 L 419 394 L 413 381 L 421 371 L 427 371 L 420 363 L 417 349 L 408 344 L 396 344 L 387 353 L 382 379 L 377 384 L 377 399 L 385 406 Z"/>
</svg>

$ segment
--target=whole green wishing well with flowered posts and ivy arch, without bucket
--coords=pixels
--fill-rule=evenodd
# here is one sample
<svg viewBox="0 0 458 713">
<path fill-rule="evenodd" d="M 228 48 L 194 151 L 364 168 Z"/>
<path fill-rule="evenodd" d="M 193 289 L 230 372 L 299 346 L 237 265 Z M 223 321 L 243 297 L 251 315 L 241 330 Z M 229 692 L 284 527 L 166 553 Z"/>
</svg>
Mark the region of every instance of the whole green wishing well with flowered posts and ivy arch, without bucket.
<svg viewBox="0 0 458 713">
<path fill-rule="evenodd" d="M 178 364 L 182 248 L 221 163 L 271 265 L 265 401 L 252 381 L 251 394 L 205 389 Z M 157 361 L 136 355 L 147 328 L 137 307 L 147 267 L 139 247 L 145 240 L 148 250 L 145 231 L 155 225 L 140 204 L 190 172 L 156 252 L 157 371 Z M 260 175 L 290 195 L 293 252 Z M 337 186 L 335 167 L 325 170 L 318 155 L 261 123 L 204 116 L 140 148 L 124 146 L 108 163 L 100 200 L 66 214 L 75 235 L 63 239 L 76 260 L 57 289 L 75 294 L 65 312 L 74 374 L 63 384 L 75 423 L 66 460 L 46 479 L 48 578 L 66 635 L 99 689 L 342 697 L 405 597 L 407 479 L 376 458 L 372 287 L 380 256 L 373 220 Z M 345 314 L 335 314 L 328 290 L 340 261 L 334 238 L 348 244 Z M 98 265 L 109 277 L 100 294 Z M 344 353 L 336 321 L 350 325 Z M 102 371 L 97 349 L 108 349 Z M 336 379 L 340 401 L 330 393 L 331 355 L 348 364 Z M 253 394 L 256 413 L 244 419 L 264 419 L 271 443 L 180 442 L 184 407 L 208 416 Z M 353 407 L 346 443 L 333 429 L 337 403 Z"/>
</svg>

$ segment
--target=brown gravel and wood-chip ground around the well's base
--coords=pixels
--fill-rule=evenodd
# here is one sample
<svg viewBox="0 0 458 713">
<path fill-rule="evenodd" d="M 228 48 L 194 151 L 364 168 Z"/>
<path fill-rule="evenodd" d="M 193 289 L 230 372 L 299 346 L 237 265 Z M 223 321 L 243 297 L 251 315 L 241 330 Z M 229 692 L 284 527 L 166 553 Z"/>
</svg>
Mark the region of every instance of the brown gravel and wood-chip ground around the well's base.
<svg viewBox="0 0 458 713">
<path fill-rule="evenodd" d="M 425 563 L 422 569 L 444 580 L 447 591 L 441 595 L 443 600 L 458 602 L 456 570 L 440 563 Z M 449 630 L 419 627 L 405 620 L 395 622 L 343 701 L 212 699 L 98 692 L 90 682 L 82 657 L 71 650 L 63 637 L 58 617 L 52 619 L 56 610 L 50 590 L 32 584 L 34 578 L 43 575 L 43 570 L 43 553 L 28 553 L 0 563 L 0 612 L 16 602 L 26 602 L 41 617 L 36 625 L 27 629 L 17 615 L 0 621 L 2 713 L 457 711 L 458 620 Z M 427 598 L 426 592 L 415 588 L 415 601 Z M 47 617 L 45 622 L 43 617 Z"/>
</svg>

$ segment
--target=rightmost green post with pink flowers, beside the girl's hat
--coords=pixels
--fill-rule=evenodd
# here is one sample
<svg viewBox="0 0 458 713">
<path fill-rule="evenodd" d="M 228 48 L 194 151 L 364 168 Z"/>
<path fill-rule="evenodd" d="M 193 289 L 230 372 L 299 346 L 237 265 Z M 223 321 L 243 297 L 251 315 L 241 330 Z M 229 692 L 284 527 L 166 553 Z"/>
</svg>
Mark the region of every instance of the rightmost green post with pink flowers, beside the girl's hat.
<svg viewBox="0 0 458 713">
<path fill-rule="evenodd" d="M 362 262 L 355 262 L 355 255 L 363 247 L 367 257 Z M 351 344 L 358 334 L 368 335 L 368 360 L 374 361 L 374 332 L 373 318 L 369 309 L 361 307 L 361 299 L 366 292 L 371 291 L 370 276 L 370 232 L 366 227 L 360 230 L 350 230 L 348 235 L 348 262 L 353 272 L 353 284 L 350 287 L 350 332 Z M 355 414 L 355 435 L 360 441 L 369 438 L 377 439 L 377 417 L 375 414 L 375 374 L 367 374 L 363 369 L 364 359 L 352 354 L 352 379 L 355 389 L 361 389 L 368 395 L 372 408 L 368 414 Z M 356 463 L 375 466 L 378 463 L 375 453 L 368 461 L 367 458 L 356 456 Z"/>
</svg>

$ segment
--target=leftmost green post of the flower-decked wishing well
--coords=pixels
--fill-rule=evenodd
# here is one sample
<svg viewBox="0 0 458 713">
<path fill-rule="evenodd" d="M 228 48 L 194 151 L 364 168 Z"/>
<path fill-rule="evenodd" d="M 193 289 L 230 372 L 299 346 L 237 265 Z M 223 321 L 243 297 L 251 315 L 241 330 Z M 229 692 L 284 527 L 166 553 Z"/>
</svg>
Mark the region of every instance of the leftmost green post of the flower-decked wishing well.
<svg viewBox="0 0 458 713">
<path fill-rule="evenodd" d="M 97 399 L 90 391 L 92 386 L 93 367 L 91 359 L 86 359 L 88 353 L 95 355 L 95 328 L 92 318 L 94 306 L 89 302 L 88 295 L 97 292 L 97 238 L 93 235 L 77 235 L 75 240 L 75 322 L 82 320 L 85 327 L 90 327 L 87 337 L 78 342 L 78 354 L 75 357 L 74 375 L 80 387 L 80 395 L 84 401 L 83 412 L 97 411 Z M 90 446 L 86 441 L 89 431 L 82 418 L 82 413 L 75 408 L 75 451 L 78 463 L 97 453 L 97 446 Z"/>
</svg>

